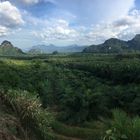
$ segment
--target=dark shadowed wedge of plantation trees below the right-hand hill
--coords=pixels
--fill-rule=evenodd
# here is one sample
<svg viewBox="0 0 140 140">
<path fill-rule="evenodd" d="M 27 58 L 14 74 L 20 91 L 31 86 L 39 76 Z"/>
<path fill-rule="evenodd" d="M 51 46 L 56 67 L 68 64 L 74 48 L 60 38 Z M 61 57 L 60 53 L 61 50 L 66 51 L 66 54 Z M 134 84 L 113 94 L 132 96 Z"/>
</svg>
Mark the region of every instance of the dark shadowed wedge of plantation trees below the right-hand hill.
<svg viewBox="0 0 140 140">
<path fill-rule="evenodd" d="M 109 80 L 114 84 L 129 84 L 140 82 L 140 61 L 90 61 L 90 62 L 61 62 L 56 65 L 69 69 L 90 72 L 92 75 Z"/>
</svg>

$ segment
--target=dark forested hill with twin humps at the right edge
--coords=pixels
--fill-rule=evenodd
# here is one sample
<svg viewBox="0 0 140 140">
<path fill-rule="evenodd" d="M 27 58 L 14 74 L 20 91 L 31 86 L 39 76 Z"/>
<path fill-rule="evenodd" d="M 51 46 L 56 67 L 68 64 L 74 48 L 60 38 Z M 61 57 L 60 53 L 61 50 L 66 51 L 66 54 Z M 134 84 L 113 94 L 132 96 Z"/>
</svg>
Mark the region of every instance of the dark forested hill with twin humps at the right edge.
<svg viewBox="0 0 140 140">
<path fill-rule="evenodd" d="M 135 51 L 140 51 L 140 35 L 136 35 L 129 41 L 111 38 L 103 44 L 91 45 L 83 50 L 85 53 L 123 53 Z"/>
</svg>

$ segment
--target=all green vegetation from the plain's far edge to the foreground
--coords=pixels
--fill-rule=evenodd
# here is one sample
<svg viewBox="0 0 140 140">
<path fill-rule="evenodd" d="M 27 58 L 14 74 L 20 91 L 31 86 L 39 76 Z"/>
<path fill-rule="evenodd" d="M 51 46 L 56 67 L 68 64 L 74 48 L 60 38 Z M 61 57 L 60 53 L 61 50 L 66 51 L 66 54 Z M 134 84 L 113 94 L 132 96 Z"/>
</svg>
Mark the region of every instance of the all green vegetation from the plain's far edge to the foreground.
<svg viewBox="0 0 140 140">
<path fill-rule="evenodd" d="M 140 137 L 139 54 L 1 57 L 0 86 L 2 103 L 29 137 Z"/>
</svg>

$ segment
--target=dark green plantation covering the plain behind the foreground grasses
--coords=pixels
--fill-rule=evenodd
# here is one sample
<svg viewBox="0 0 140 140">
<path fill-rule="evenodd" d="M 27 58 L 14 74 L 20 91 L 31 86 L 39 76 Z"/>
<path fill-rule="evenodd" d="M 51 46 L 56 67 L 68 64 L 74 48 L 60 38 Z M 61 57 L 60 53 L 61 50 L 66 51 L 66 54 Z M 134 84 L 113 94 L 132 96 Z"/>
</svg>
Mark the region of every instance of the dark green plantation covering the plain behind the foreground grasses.
<svg viewBox="0 0 140 140">
<path fill-rule="evenodd" d="M 58 118 L 69 123 L 110 117 L 116 107 L 139 114 L 139 74 L 139 55 L 121 61 L 77 54 L 0 63 L 2 87 L 35 92 L 44 108 L 55 108 Z"/>
</svg>

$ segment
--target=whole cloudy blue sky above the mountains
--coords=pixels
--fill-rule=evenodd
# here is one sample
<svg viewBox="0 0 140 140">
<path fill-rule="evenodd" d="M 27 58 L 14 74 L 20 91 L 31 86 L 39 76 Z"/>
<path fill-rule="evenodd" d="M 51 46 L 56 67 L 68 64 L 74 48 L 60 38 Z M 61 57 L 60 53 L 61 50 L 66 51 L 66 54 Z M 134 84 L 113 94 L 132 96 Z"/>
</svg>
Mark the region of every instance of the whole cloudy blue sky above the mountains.
<svg viewBox="0 0 140 140">
<path fill-rule="evenodd" d="M 140 0 L 0 0 L 0 42 L 26 50 L 130 40 L 140 34 Z"/>
</svg>

